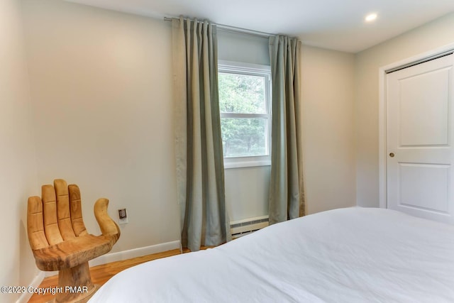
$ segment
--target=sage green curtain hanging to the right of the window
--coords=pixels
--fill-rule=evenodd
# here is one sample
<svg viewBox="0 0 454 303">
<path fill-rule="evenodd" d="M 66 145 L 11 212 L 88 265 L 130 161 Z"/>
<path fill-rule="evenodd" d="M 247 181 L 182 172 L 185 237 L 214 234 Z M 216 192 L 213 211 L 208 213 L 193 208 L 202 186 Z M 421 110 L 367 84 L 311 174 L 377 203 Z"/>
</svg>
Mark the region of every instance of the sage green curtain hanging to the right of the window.
<svg viewBox="0 0 454 303">
<path fill-rule="evenodd" d="M 272 130 L 270 224 L 304 215 L 300 134 L 300 48 L 297 38 L 270 37 Z"/>
</svg>

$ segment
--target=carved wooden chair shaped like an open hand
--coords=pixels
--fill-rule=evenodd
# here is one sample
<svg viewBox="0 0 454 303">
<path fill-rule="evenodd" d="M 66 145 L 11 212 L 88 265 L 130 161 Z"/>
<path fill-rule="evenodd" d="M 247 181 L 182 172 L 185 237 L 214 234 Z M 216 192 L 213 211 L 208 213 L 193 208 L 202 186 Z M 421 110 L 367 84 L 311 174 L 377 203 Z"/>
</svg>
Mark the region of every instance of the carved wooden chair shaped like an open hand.
<svg viewBox="0 0 454 303">
<path fill-rule="evenodd" d="M 88 261 L 109 252 L 120 237 L 120 229 L 107 214 L 109 200 L 98 199 L 94 216 L 102 234 L 87 233 L 82 219 L 79 187 L 54 180 L 43 185 L 40 197 L 28 198 L 27 228 L 36 265 L 40 270 L 58 272 L 55 302 L 78 302 L 96 291 Z M 72 287 L 69 290 L 65 287 Z M 74 290 L 76 290 L 74 292 Z"/>
</svg>

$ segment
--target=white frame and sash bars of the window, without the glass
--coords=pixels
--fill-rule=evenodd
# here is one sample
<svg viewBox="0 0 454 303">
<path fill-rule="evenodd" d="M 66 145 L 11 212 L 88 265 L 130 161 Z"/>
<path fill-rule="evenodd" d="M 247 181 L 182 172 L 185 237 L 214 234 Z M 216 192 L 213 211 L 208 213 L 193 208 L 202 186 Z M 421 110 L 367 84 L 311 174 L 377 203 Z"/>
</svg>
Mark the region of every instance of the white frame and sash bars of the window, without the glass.
<svg viewBox="0 0 454 303">
<path fill-rule="evenodd" d="M 265 150 L 267 155 L 224 157 L 224 168 L 255 167 L 271 165 L 271 67 L 269 65 L 255 65 L 244 62 L 218 60 L 218 73 L 231 73 L 237 75 L 252 75 L 265 77 L 265 102 L 266 114 L 237 114 L 222 113 L 223 118 L 265 118 L 267 119 L 267 138 L 265 138 Z"/>
</svg>

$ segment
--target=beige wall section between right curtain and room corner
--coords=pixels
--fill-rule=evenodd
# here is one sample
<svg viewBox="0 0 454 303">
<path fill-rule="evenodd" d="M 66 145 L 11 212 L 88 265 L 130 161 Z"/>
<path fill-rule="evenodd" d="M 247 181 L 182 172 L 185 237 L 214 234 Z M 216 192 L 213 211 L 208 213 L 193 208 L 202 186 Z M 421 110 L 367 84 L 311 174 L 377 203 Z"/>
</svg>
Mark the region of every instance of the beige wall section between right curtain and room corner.
<svg viewBox="0 0 454 303">
<path fill-rule="evenodd" d="M 354 55 L 304 46 L 302 127 L 306 211 L 355 205 Z"/>
</svg>

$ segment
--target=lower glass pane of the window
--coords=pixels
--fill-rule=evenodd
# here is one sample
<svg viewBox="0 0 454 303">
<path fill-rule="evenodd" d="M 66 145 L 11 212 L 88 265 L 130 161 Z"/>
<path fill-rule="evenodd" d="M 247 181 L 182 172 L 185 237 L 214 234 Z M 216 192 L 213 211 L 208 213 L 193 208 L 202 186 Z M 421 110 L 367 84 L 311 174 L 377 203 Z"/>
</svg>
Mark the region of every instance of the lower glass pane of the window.
<svg viewBox="0 0 454 303">
<path fill-rule="evenodd" d="M 221 118 L 224 157 L 267 155 L 267 119 Z"/>
</svg>

